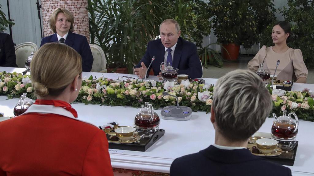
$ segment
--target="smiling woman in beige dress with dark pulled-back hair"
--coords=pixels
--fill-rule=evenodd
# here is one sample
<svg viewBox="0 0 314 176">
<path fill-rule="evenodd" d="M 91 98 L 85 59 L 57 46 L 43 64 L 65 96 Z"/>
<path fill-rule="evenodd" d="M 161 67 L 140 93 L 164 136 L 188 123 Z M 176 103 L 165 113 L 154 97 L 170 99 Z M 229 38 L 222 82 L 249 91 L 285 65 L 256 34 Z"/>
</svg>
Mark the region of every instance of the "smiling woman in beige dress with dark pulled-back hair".
<svg viewBox="0 0 314 176">
<path fill-rule="evenodd" d="M 255 72 L 259 65 L 264 63 L 263 67 L 268 69 L 270 74 L 273 75 L 277 60 L 280 60 L 276 71 L 277 79 L 306 83 L 308 72 L 301 50 L 287 46 L 291 39 L 290 24 L 285 21 L 275 24 L 272 31 L 272 39 L 275 45 L 268 48 L 264 45 L 247 64 L 247 68 Z"/>
</svg>

